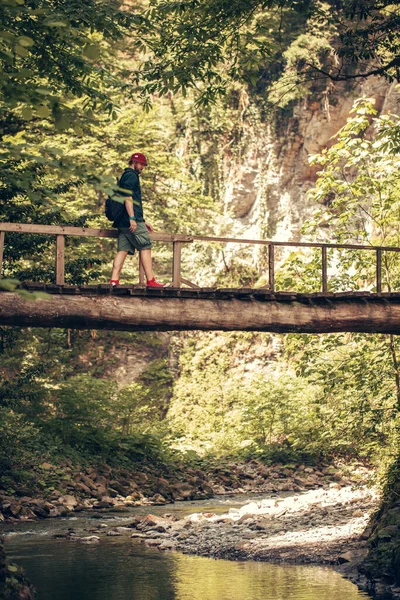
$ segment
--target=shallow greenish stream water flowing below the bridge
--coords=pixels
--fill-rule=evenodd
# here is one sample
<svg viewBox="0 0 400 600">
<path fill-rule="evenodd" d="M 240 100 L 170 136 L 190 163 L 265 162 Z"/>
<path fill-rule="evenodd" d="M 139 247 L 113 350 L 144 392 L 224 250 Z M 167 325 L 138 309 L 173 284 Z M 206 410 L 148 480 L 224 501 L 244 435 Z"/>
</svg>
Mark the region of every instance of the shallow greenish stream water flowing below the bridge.
<svg viewBox="0 0 400 600">
<path fill-rule="evenodd" d="M 128 536 L 86 545 L 52 536 L 73 528 L 91 535 L 102 523 L 126 525 L 137 514 L 225 512 L 240 499 L 140 507 L 93 518 L 6 524 L 5 550 L 26 570 L 37 600 L 360 600 L 370 598 L 326 567 L 232 562 L 160 552 Z M 92 530 L 92 531 L 91 531 Z"/>
</svg>

